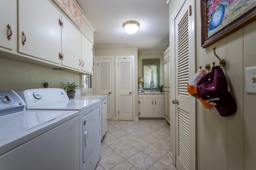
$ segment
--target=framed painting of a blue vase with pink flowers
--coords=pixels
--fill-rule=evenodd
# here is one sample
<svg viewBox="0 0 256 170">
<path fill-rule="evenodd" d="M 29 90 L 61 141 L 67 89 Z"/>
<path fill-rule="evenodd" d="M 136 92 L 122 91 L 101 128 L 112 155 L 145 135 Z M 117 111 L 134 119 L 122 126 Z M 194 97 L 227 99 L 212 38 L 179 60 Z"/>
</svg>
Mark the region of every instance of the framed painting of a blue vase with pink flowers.
<svg viewBox="0 0 256 170">
<path fill-rule="evenodd" d="M 256 18 L 256 0 L 200 0 L 200 5 L 203 48 Z"/>
</svg>

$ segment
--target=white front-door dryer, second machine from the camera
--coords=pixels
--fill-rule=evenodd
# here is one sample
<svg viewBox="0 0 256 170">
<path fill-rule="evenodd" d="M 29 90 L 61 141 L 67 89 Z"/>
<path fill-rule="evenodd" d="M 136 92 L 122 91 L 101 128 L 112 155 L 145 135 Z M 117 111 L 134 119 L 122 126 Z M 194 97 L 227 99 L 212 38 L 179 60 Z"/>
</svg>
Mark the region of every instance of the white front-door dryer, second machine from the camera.
<svg viewBox="0 0 256 170">
<path fill-rule="evenodd" d="M 20 93 L 29 110 L 79 111 L 80 170 L 94 170 L 101 156 L 101 100 L 69 100 L 60 88 L 29 89 Z"/>
</svg>

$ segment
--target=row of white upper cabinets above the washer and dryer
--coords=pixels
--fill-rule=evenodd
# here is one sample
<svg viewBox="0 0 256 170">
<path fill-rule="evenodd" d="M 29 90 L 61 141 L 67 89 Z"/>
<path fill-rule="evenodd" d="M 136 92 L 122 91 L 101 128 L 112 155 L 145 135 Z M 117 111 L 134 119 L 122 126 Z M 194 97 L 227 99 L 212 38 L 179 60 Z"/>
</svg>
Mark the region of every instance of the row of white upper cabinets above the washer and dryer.
<svg viewBox="0 0 256 170">
<path fill-rule="evenodd" d="M 51 0 L 1 2 L 0 14 L 6 17 L 0 21 L 0 36 L 4 40 L 0 42 L 0 47 L 16 49 L 16 53 L 10 53 L 21 58 L 27 56 L 37 64 L 47 63 L 51 67 L 92 74 L 92 40 L 84 37 L 86 33 L 93 35 L 89 23 L 83 20 L 83 29 L 78 29 Z M 10 41 L 7 39 L 11 33 L 8 24 L 12 28 Z"/>
</svg>

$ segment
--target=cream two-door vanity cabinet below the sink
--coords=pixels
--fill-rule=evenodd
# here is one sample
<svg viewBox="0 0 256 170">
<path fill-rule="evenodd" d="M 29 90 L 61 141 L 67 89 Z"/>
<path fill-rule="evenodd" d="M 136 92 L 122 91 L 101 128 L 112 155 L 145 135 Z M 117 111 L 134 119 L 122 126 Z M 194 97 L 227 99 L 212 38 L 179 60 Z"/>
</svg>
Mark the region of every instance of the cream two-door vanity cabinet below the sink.
<svg viewBox="0 0 256 170">
<path fill-rule="evenodd" d="M 139 94 L 139 117 L 164 117 L 163 94 Z"/>
</svg>

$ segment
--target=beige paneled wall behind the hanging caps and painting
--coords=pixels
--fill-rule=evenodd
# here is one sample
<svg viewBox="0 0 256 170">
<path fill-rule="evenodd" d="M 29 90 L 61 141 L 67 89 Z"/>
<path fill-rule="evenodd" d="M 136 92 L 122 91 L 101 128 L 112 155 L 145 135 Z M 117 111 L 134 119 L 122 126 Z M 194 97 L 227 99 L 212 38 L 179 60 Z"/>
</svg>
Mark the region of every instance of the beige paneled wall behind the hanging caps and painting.
<svg viewBox="0 0 256 170">
<path fill-rule="evenodd" d="M 212 50 L 216 47 L 216 53 L 227 62 L 223 71 L 237 104 L 234 115 L 221 117 L 215 107 L 205 109 L 201 102 L 197 102 L 197 169 L 253 170 L 256 167 L 256 94 L 246 93 L 244 82 L 245 68 L 256 66 L 256 21 L 203 49 L 200 1 L 195 2 L 192 10 L 196 11 L 196 70 L 207 63 L 211 67 L 212 62 L 218 63 Z M 179 0 L 170 1 L 170 18 L 178 3 Z M 170 32 L 170 35 L 173 34 Z M 172 38 L 170 45 L 173 45 Z"/>
</svg>

